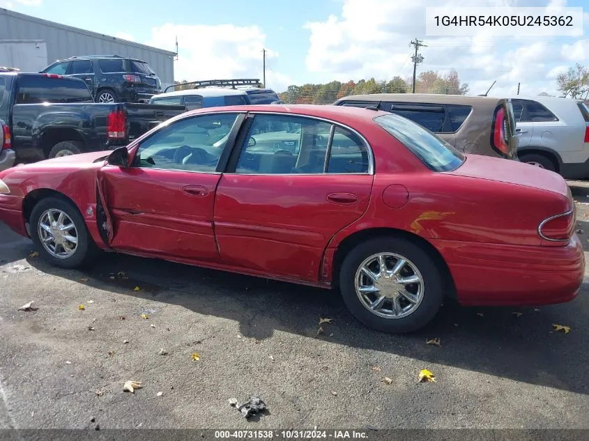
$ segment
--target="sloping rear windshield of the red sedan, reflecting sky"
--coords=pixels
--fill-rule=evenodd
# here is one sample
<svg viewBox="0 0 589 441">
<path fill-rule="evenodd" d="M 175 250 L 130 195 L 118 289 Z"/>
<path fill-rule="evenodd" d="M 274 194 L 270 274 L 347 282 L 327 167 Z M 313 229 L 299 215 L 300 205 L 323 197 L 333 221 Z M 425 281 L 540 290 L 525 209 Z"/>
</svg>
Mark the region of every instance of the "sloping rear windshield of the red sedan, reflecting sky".
<svg viewBox="0 0 589 441">
<path fill-rule="evenodd" d="M 402 116 L 377 116 L 374 122 L 392 134 L 433 171 L 456 170 L 464 162 L 464 155 L 446 141 Z"/>
</svg>

